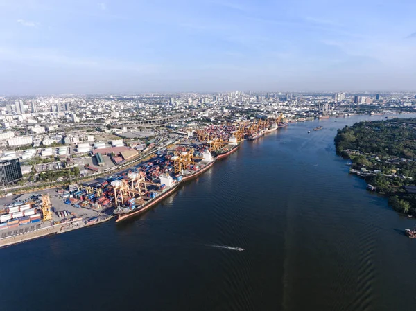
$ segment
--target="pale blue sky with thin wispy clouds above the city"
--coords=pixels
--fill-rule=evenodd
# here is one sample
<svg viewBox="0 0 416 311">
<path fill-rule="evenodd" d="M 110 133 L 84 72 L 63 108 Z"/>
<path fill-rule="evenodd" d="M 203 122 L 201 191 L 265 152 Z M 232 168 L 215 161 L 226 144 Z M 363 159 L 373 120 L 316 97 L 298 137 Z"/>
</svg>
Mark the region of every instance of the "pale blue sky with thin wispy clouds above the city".
<svg viewBox="0 0 416 311">
<path fill-rule="evenodd" d="M 415 0 L 0 0 L 0 94 L 416 90 Z"/>
</svg>

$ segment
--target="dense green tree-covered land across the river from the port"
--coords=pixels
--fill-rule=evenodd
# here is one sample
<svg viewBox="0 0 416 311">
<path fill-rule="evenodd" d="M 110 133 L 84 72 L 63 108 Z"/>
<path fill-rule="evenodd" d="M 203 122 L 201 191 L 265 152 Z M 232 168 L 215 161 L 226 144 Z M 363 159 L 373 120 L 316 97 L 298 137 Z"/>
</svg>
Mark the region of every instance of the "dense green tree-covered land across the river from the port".
<svg viewBox="0 0 416 311">
<path fill-rule="evenodd" d="M 416 216 L 416 118 L 355 123 L 334 141 L 336 152 L 351 160 L 350 173 L 388 196 L 396 211 Z"/>
</svg>

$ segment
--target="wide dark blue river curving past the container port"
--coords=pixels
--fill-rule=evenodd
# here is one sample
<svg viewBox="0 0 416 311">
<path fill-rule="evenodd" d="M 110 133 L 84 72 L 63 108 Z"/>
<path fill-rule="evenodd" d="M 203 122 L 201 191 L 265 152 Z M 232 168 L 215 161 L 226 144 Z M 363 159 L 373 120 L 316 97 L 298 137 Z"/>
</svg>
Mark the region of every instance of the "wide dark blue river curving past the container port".
<svg viewBox="0 0 416 311">
<path fill-rule="evenodd" d="M 333 145 L 338 128 L 381 118 L 291 124 L 141 217 L 0 249 L 1 308 L 413 310 L 416 241 L 402 231 L 416 221 Z"/>
</svg>

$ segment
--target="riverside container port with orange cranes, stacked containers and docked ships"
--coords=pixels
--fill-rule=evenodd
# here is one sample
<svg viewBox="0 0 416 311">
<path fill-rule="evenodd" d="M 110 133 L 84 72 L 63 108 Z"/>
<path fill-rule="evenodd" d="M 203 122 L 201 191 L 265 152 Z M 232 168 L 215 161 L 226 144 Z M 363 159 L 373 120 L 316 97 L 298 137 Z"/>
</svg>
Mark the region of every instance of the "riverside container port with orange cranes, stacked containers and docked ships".
<svg viewBox="0 0 416 311">
<path fill-rule="evenodd" d="M 281 116 L 270 121 L 209 125 L 191 131 L 193 135 L 188 139 L 156 152 L 155 157 L 112 176 L 68 188 L 3 198 L 9 202 L 3 203 L 0 211 L 0 247 L 91 226 L 114 216 L 116 222 L 121 222 L 144 213 L 171 195 L 182 182 L 199 176 L 216 160 L 236 151 L 244 139 L 256 139 L 286 125 L 281 123 Z M 119 141 L 112 145 L 123 148 Z M 104 150 L 105 145 L 96 143 L 94 147 Z M 101 153 L 96 152 L 96 158 L 98 164 L 103 162 Z M 112 157 L 114 162 L 121 160 Z"/>
</svg>

